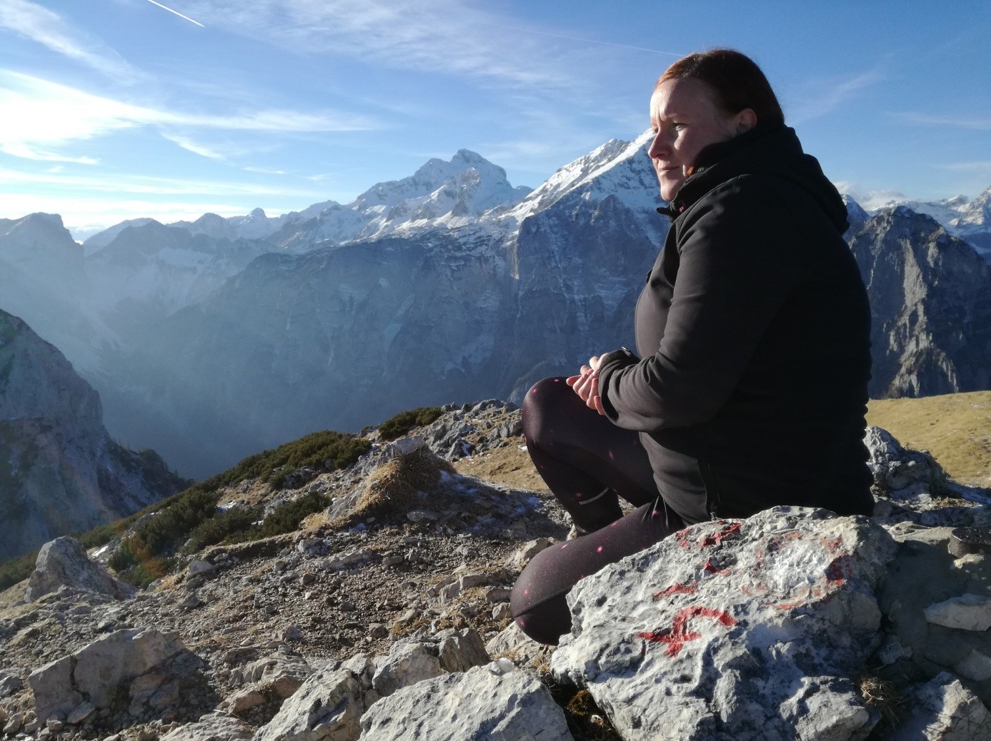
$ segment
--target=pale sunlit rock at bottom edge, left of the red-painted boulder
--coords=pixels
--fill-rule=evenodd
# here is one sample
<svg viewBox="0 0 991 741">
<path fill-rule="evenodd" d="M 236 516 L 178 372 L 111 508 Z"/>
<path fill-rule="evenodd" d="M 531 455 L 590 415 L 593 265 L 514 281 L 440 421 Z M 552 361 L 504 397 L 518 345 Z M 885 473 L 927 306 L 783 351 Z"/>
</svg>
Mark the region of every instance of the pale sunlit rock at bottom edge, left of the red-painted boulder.
<svg viewBox="0 0 991 741">
<path fill-rule="evenodd" d="M 572 741 L 564 713 L 529 672 L 494 665 L 402 688 L 362 718 L 365 741 Z"/>
</svg>

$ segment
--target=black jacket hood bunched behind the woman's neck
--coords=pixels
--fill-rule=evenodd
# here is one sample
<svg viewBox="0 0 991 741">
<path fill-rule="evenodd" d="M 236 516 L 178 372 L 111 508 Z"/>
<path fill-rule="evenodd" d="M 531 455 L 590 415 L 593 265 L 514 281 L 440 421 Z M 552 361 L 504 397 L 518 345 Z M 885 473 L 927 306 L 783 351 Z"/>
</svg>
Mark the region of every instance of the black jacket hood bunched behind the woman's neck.
<svg viewBox="0 0 991 741">
<path fill-rule="evenodd" d="M 839 191 L 823 173 L 819 160 L 802 151 L 795 130 L 784 124 L 761 124 L 727 142 L 706 147 L 675 197 L 666 208 L 657 210 L 674 219 L 717 185 L 746 174 L 794 183 L 819 203 L 840 234 L 849 226 Z"/>
</svg>

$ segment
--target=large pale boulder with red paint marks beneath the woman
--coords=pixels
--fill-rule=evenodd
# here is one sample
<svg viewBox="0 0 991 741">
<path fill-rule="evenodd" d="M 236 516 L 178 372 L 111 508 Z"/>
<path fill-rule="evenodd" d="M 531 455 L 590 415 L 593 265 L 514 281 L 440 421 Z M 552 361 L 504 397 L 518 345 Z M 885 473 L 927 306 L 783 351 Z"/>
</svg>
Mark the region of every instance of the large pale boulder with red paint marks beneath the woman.
<svg viewBox="0 0 991 741">
<path fill-rule="evenodd" d="M 851 678 L 894 553 L 880 526 L 826 510 L 700 523 L 579 582 L 552 671 L 626 741 L 862 738 Z"/>
</svg>

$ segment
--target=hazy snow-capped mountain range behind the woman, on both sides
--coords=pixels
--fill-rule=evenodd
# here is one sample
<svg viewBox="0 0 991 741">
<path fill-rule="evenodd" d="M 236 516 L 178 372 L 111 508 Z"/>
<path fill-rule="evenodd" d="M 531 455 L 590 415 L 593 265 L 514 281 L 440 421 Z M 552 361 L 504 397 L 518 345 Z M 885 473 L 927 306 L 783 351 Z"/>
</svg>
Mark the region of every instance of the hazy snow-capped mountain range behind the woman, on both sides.
<svg viewBox="0 0 991 741">
<path fill-rule="evenodd" d="M 82 247 L 56 216 L 0 220 L 0 308 L 99 390 L 114 435 L 195 476 L 314 429 L 518 400 L 632 341 L 668 228 L 645 144 L 608 142 L 533 191 L 462 150 L 350 204 L 133 220 Z M 989 198 L 847 199 L 873 395 L 991 387 Z"/>
</svg>

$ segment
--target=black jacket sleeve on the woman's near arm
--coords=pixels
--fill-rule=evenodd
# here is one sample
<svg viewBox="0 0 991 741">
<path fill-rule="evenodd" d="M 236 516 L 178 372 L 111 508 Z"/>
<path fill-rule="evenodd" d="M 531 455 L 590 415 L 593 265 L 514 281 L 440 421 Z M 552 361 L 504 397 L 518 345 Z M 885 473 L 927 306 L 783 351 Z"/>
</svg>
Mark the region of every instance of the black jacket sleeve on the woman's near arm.
<svg viewBox="0 0 991 741">
<path fill-rule="evenodd" d="M 609 353 L 600 367 L 599 392 L 613 423 L 656 432 L 716 415 L 798 283 L 802 246 L 789 211 L 759 178 L 737 178 L 686 214 L 660 348 L 640 361 Z"/>
</svg>

